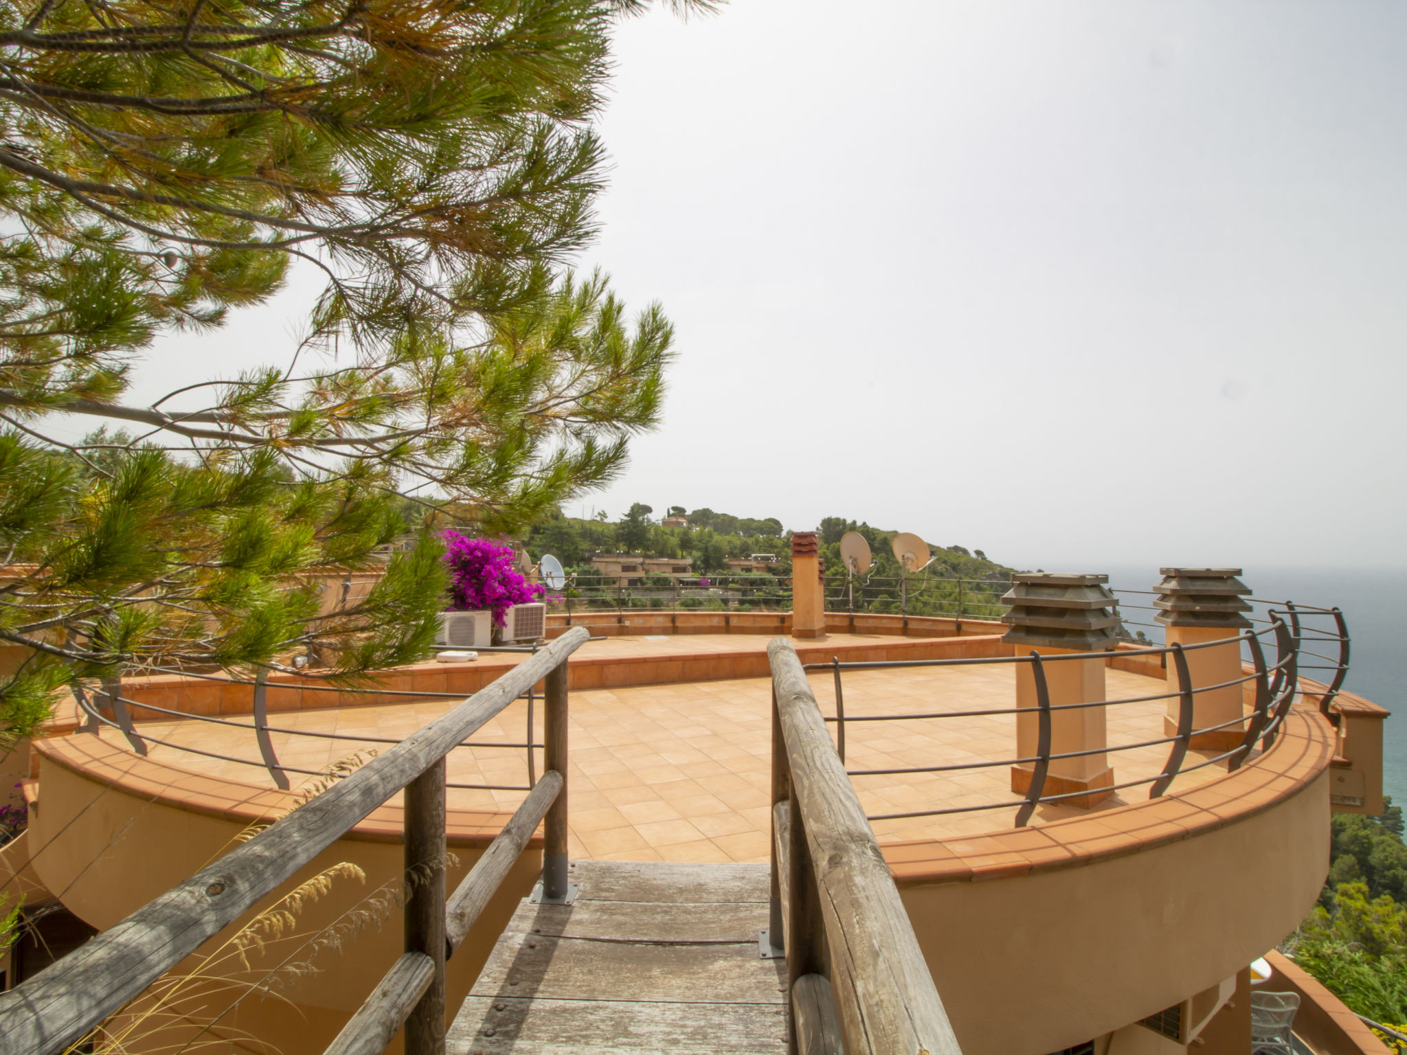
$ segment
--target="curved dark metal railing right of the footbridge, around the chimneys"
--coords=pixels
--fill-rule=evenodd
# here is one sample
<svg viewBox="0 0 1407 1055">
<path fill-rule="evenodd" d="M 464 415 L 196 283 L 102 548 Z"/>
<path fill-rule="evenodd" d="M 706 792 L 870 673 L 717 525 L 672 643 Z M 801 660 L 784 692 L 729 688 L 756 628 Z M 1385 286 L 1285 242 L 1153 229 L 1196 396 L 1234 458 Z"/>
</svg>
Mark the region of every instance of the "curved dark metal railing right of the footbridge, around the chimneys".
<svg viewBox="0 0 1407 1055">
<path fill-rule="evenodd" d="M 1252 754 L 1252 751 L 1259 747 L 1262 751 L 1269 748 L 1275 743 L 1275 737 L 1280 730 L 1286 715 L 1289 713 L 1290 705 L 1293 703 L 1296 695 L 1300 691 L 1300 671 L 1306 667 L 1300 664 L 1300 657 L 1313 656 L 1316 658 L 1324 658 L 1328 661 L 1325 670 L 1332 670 L 1334 677 L 1327 686 L 1323 688 L 1320 693 L 1320 710 L 1324 716 L 1334 724 L 1338 724 L 1337 716 L 1331 712 L 1331 703 L 1342 688 L 1344 678 L 1348 674 L 1348 660 L 1349 660 L 1349 636 L 1348 629 L 1344 622 L 1342 612 L 1337 608 L 1313 608 L 1304 605 L 1292 605 L 1289 602 L 1261 602 L 1268 605 L 1268 610 L 1263 616 L 1252 619 L 1252 627 L 1241 634 L 1227 636 L 1218 640 L 1202 641 L 1196 644 L 1179 644 L 1173 643 L 1171 646 L 1157 646 L 1150 644 L 1145 647 L 1123 647 L 1117 653 L 1097 651 L 1097 653 L 1067 653 L 1057 656 L 1041 656 L 1038 651 L 1033 650 L 1027 656 L 999 656 L 999 657 L 982 657 L 982 658 L 954 658 L 954 660 L 893 660 L 893 661 L 862 661 L 862 663 L 841 663 L 839 657 L 832 658 L 830 663 L 813 663 L 806 664 L 806 671 L 830 671 L 834 678 L 834 692 L 836 692 L 836 713 L 827 716 L 825 720 L 836 726 L 836 750 L 840 757 L 841 764 L 846 762 L 846 730 L 847 726 L 853 723 L 865 722 L 900 722 L 900 720 L 946 720 L 946 719 L 972 719 L 972 717 L 993 717 L 993 716 L 1033 716 L 1037 723 L 1036 730 L 1036 751 L 1033 754 L 1020 754 L 1012 758 L 1000 760 L 978 760 L 978 761 L 964 761 L 941 765 L 906 765 L 906 767 L 878 767 L 878 768 L 858 768 L 847 769 L 851 778 L 868 778 L 868 776 L 896 776 L 905 774 L 950 774 L 961 771 L 978 771 L 989 769 L 1002 765 L 1030 765 L 1030 785 L 1027 793 L 1021 799 L 1002 800 L 1002 802 L 986 802 L 965 806 L 946 806 L 920 810 L 906 810 L 896 813 L 875 813 L 870 814 L 871 821 L 878 820 L 903 820 L 912 817 L 931 817 L 953 813 L 974 813 L 982 810 L 995 809 L 1012 809 L 1017 810 L 1016 826 L 1024 827 L 1036 809 L 1044 803 L 1059 803 L 1071 799 L 1083 799 L 1086 803 L 1092 796 L 1104 796 L 1107 793 L 1123 791 L 1127 788 L 1135 788 L 1141 785 L 1148 785 L 1150 798 L 1159 798 L 1168 789 L 1168 786 L 1179 775 L 1190 774 L 1197 769 L 1216 765 L 1218 762 L 1225 762 L 1228 769 L 1237 769 L 1242 765 Z M 1151 610 L 1151 609 L 1150 609 Z M 1306 619 L 1320 618 L 1332 622 L 1332 630 L 1325 630 L 1323 627 L 1307 626 Z M 1301 647 L 1301 640 L 1309 636 L 1310 640 L 1316 641 L 1335 641 L 1338 644 L 1338 657 L 1330 657 L 1321 653 L 1306 653 Z M 1275 648 L 1275 661 L 1266 660 L 1266 644 Z M 1224 679 L 1213 684 L 1195 685 L 1193 678 L 1188 664 L 1188 654 L 1196 653 L 1207 648 L 1224 648 L 1227 646 L 1237 646 L 1244 648 L 1251 672 L 1244 674 L 1238 678 Z M 1120 699 L 1109 701 L 1095 701 L 1095 702 L 1081 702 L 1081 703 L 1051 703 L 1050 686 L 1047 682 L 1047 665 L 1051 663 L 1069 663 L 1082 660 L 1107 660 L 1116 656 L 1120 660 L 1128 660 L 1135 657 L 1159 657 L 1161 663 L 1166 665 L 1168 657 L 1172 657 L 1172 664 L 1176 671 L 1176 681 L 1169 692 L 1161 693 L 1144 693 L 1135 696 L 1126 696 Z M 1036 706 L 1034 708 L 982 708 L 982 709 L 964 709 L 964 710 L 922 710 L 922 712 L 900 712 L 900 713 L 865 713 L 855 715 L 846 712 L 844 699 L 844 684 L 843 672 L 846 671 L 874 671 L 874 670 L 896 670 L 896 668 L 919 668 L 919 667 L 974 667 L 974 665 L 1027 665 L 1030 668 L 1031 679 L 1036 691 Z M 1196 699 L 1199 695 L 1210 693 L 1221 689 L 1254 685 L 1254 699 L 1255 703 L 1249 713 L 1238 713 L 1235 717 L 1227 722 L 1220 722 L 1210 726 L 1193 727 L 1193 717 L 1196 709 Z M 1242 696 L 1245 689 L 1242 689 Z M 1106 744 L 1089 750 L 1081 751 L 1052 751 L 1052 717 L 1064 710 L 1079 710 L 1088 708 L 1119 708 L 1134 703 L 1151 703 L 1157 701 L 1178 701 L 1178 726 L 1176 733 L 1172 736 L 1152 737 L 1137 740 L 1131 743 L 1116 743 Z M 1034 715 L 1033 715 L 1034 712 Z M 1171 717 L 1171 715 L 1169 715 Z M 1186 764 L 1186 755 L 1193 736 L 1203 736 L 1209 733 L 1217 733 L 1223 730 L 1242 730 L 1242 737 L 1235 747 L 1230 750 L 1223 750 L 1213 754 L 1209 758 L 1203 758 L 1192 765 Z M 1138 779 L 1123 781 L 1109 785 L 1096 785 L 1072 792 L 1058 792 L 1045 793 L 1045 785 L 1050 778 L 1050 768 L 1052 762 L 1069 758 L 1081 758 L 1096 754 L 1117 754 L 1120 751 L 1133 751 L 1151 747 L 1168 746 L 1169 753 L 1164 765 L 1158 772 Z"/>
</svg>

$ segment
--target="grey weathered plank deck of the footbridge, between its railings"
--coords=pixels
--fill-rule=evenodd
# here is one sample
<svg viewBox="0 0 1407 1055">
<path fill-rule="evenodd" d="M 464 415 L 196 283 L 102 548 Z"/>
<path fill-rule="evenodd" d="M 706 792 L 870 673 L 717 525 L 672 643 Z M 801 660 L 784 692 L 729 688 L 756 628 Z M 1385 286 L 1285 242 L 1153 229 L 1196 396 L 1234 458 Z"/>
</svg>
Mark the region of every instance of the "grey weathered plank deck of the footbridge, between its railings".
<svg viewBox="0 0 1407 1055">
<path fill-rule="evenodd" d="M 570 906 L 523 900 L 449 1055 L 782 1052 L 787 968 L 761 959 L 767 865 L 581 861 Z"/>
</svg>

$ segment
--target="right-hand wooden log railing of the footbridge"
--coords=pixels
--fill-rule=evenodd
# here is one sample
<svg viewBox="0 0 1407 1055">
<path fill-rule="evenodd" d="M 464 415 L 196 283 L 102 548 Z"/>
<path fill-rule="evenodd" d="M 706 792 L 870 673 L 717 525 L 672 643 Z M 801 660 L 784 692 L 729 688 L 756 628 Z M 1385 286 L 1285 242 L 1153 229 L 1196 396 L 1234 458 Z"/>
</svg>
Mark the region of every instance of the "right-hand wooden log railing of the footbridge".
<svg viewBox="0 0 1407 1055">
<path fill-rule="evenodd" d="M 794 1055 L 961 1055 L 796 650 L 772 670 L 772 885 Z M 784 935 L 784 941 L 778 937 Z"/>
</svg>

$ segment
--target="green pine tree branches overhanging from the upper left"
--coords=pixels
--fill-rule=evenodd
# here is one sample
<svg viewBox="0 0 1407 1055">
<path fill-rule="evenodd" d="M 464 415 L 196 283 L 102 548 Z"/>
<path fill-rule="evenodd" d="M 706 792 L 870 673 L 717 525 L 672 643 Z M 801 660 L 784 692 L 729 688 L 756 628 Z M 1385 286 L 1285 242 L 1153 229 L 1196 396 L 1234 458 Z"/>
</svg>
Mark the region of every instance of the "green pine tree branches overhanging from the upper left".
<svg viewBox="0 0 1407 1055">
<path fill-rule="evenodd" d="M 563 269 L 643 6 L 0 0 L 0 740 L 83 678 L 415 658 L 428 530 L 355 606 L 319 616 L 314 582 L 407 519 L 514 529 L 619 470 L 673 331 Z M 326 286 L 279 362 L 124 402 L 159 333 L 290 266 Z M 58 412 L 135 432 L 65 443 Z"/>
</svg>

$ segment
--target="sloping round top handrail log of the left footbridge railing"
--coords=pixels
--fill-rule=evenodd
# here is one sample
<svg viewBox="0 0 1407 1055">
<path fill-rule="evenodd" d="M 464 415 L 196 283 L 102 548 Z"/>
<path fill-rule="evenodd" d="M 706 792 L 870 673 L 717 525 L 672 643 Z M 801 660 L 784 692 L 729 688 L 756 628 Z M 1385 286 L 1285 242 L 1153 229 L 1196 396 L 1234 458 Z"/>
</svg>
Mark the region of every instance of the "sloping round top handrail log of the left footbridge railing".
<svg viewBox="0 0 1407 1055">
<path fill-rule="evenodd" d="M 55 1055 L 132 1000 L 588 640 L 573 627 L 355 774 L 7 993 L 0 1055 Z"/>
</svg>

